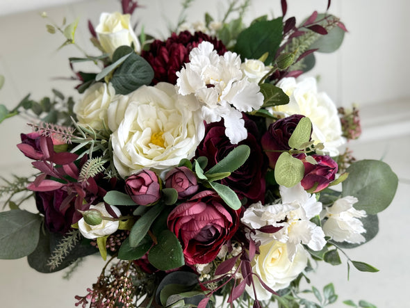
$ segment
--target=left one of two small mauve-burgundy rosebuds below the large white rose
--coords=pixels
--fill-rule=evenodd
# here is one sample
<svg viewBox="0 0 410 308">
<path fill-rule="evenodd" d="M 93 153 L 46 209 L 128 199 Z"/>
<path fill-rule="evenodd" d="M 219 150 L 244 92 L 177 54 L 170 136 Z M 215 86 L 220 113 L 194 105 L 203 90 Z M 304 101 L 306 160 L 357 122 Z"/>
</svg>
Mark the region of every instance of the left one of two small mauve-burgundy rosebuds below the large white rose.
<svg viewBox="0 0 410 308">
<path fill-rule="evenodd" d="M 151 170 L 141 170 L 125 180 L 125 191 L 136 204 L 151 205 L 160 197 L 160 184 L 156 173 Z"/>
</svg>

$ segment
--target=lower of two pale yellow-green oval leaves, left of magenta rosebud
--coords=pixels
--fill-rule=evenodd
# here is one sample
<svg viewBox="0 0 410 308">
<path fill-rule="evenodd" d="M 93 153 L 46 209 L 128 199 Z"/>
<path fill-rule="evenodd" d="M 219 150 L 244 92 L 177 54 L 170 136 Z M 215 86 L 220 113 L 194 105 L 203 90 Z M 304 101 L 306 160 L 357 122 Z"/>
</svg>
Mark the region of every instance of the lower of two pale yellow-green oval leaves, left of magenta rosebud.
<svg viewBox="0 0 410 308">
<path fill-rule="evenodd" d="M 277 184 L 292 187 L 302 181 L 304 165 L 300 159 L 295 159 L 288 152 L 279 156 L 274 167 L 274 179 Z"/>
</svg>

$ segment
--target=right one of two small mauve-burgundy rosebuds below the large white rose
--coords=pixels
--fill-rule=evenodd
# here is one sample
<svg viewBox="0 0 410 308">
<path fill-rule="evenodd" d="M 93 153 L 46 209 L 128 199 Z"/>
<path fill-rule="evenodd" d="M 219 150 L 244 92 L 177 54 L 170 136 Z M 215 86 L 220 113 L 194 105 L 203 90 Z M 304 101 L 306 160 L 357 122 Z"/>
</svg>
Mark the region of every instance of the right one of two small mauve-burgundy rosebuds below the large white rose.
<svg viewBox="0 0 410 308">
<path fill-rule="evenodd" d="M 190 197 L 198 191 L 197 177 L 187 167 L 177 167 L 165 175 L 165 187 L 174 188 L 178 193 L 178 199 Z"/>
</svg>

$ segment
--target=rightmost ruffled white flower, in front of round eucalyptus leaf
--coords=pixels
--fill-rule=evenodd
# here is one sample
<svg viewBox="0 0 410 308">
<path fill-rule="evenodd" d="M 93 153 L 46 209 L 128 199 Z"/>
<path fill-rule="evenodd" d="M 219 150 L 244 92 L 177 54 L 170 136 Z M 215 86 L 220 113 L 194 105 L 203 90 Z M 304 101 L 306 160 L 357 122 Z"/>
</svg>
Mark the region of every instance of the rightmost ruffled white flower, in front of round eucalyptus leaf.
<svg viewBox="0 0 410 308">
<path fill-rule="evenodd" d="M 322 212 L 322 218 L 327 218 L 323 231 L 336 242 L 363 243 L 366 241 L 362 233 L 366 232 L 359 218 L 366 217 L 365 211 L 354 209 L 356 197 L 346 196 L 336 200 L 334 204 Z"/>
</svg>

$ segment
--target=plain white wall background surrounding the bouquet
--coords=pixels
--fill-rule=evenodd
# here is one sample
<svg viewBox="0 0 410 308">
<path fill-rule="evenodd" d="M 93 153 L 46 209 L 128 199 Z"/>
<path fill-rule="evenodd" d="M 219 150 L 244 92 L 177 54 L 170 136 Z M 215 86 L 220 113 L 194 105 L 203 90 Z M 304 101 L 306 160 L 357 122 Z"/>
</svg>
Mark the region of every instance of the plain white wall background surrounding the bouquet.
<svg viewBox="0 0 410 308">
<path fill-rule="evenodd" d="M 394 204 L 380 215 L 379 236 L 362 248 L 350 252 L 352 259 L 368 261 L 381 269 L 381 273 L 357 273 L 346 280 L 346 267 L 320 264 L 314 282 L 324 286 L 336 282 L 336 291 L 342 300 L 366 299 L 379 307 L 406 307 L 407 278 L 410 270 L 407 234 L 410 232 L 407 191 L 409 188 L 410 150 L 409 104 L 410 87 L 407 60 L 410 54 L 409 30 L 410 2 L 405 0 L 343 0 L 332 1 L 331 13 L 341 17 L 349 33 L 345 42 L 334 54 L 317 57 L 313 75 L 320 75 L 320 90 L 327 92 L 339 106 L 357 103 L 363 107 L 363 138 L 353 143 L 359 159 L 380 159 L 390 163 L 401 182 Z M 138 9 L 134 21 L 139 28 L 156 36 L 166 35 L 167 22 L 176 22 L 180 1 L 141 0 L 144 8 Z M 197 0 L 188 11 L 192 22 L 202 20 L 204 11 L 218 16 L 222 0 Z M 254 0 L 247 14 L 249 22 L 266 13 L 280 15 L 280 1 Z M 325 0 L 288 0 L 287 16 L 297 20 L 313 10 L 323 11 Z M 47 9 L 46 9 L 47 8 Z M 35 10 L 33 10 L 35 9 Z M 34 99 L 51 95 L 57 88 L 67 95 L 76 95 L 76 83 L 57 77 L 71 76 L 69 56 L 81 56 L 69 46 L 56 51 L 63 43 L 61 35 L 47 33 L 39 12 L 46 10 L 57 23 L 67 17 L 72 21 L 80 17 L 77 42 L 92 54 L 98 51 L 89 42 L 87 21 L 98 23 L 102 11 L 120 10 L 115 0 L 1 0 L 0 1 L 0 74 L 6 83 L 0 90 L 0 103 L 13 108 L 28 92 Z M 161 34 L 162 33 L 162 34 Z M 17 150 L 19 133 L 27 132 L 25 120 L 13 119 L 0 126 L 1 175 L 15 173 L 27 175 L 29 162 Z M 381 126 L 382 124 L 386 124 Z M 368 129 L 366 131 L 366 129 Z M 400 136 L 400 138 L 393 138 Z M 370 152 L 371 149 L 371 152 Z M 83 267 L 69 282 L 61 279 L 62 273 L 44 275 L 28 267 L 25 259 L 0 260 L 1 307 L 74 307 L 74 295 L 83 295 L 95 282 L 103 261 L 88 258 Z M 335 274 L 334 274 L 335 273 Z M 336 307 L 343 307 L 339 302 Z"/>
</svg>

